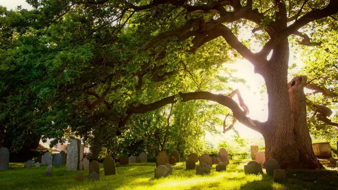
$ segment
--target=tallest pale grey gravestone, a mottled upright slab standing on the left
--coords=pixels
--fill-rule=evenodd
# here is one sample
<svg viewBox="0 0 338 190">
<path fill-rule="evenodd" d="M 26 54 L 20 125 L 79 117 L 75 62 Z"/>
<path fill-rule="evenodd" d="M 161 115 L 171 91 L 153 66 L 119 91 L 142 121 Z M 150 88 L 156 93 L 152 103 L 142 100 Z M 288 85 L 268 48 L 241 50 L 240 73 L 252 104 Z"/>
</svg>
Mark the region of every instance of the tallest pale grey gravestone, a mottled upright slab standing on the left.
<svg viewBox="0 0 338 190">
<path fill-rule="evenodd" d="M 66 171 L 75 171 L 80 169 L 80 143 L 80 139 L 73 139 L 67 146 Z"/>
</svg>

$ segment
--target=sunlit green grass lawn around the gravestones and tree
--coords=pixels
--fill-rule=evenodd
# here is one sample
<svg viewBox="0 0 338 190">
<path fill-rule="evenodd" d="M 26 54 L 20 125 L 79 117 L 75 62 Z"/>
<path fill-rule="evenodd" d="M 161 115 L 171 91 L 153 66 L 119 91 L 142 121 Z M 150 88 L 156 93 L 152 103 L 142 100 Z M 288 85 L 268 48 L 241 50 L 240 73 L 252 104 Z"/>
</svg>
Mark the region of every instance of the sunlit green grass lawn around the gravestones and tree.
<svg viewBox="0 0 338 190">
<path fill-rule="evenodd" d="M 333 165 L 324 163 L 328 170 L 289 170 L 288 180 L 285 183 L 274 183 L 273 176 L 245 175 L 244 163 L 232 163 L 226 171 L 216 172 L 215 165 L 211 174 L 196 175 L 195 170 L 185 170 L 185 162 L 173 166 L 173 174 L 161 179 L 154 179 L 155 163 L 133 163 L 129 166 L 116 168 L 116 175 L 104 175 L 101 163 L 100 181 L 87 181 L 88 171 L 83 172 L 86 180 L 75 181 L 75 176 L 80 171 L 66 171 L 66 165 L 54 168 L 52 176 L 45 177 L 47 166 L 40 168 L 23 168 L 23 163 L 10 163 L 9 170 L 0 171 L 0 189 L 118 189 L 118 190 L 176 190 L 176 189 L 314 189 L 338 190 L 337 169 Z M 331 170 L 330 170 L 331 169 Z M 265 171 L 264 171 L 265 172 Z"/>
</svg>

